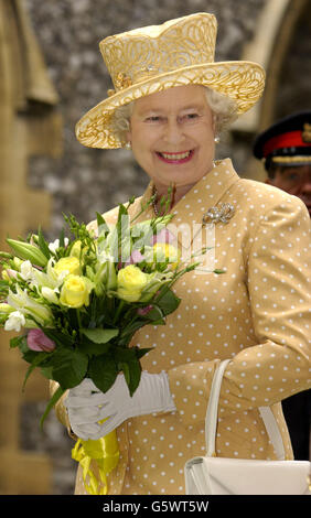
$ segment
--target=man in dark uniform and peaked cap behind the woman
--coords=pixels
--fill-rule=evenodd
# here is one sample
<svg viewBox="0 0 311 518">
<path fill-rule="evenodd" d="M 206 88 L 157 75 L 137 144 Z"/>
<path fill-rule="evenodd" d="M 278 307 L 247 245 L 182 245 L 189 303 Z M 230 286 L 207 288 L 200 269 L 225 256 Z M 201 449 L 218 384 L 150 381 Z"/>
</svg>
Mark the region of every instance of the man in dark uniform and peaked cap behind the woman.
<svg viewBox="0 0 311 518">
<path fill-rule="evenodd" d="M 254 155 L 264 162 L 266 182 L 300 197 L 311 217 L 311 110 L 290 115 L 258 134 Z M 282 409 L 294 458 L 309 461 L 311 390 L 285 399 Z"/>
</svg>

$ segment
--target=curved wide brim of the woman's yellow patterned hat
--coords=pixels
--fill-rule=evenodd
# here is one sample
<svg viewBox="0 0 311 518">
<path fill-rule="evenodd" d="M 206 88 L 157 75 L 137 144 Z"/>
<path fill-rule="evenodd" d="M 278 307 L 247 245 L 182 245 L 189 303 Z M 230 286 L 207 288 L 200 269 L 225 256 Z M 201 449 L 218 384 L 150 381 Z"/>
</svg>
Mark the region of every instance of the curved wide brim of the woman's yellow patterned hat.
<svg viewBox="0 0 311 518">
<path fill-rule="evenodd" d="M 76 138 L 88 148 L 122 148 L 125 142 L 111 125 L 114 111 L 141 97 L 185 85 L 206 86 L 234 99 L 242 115 L 261 97 L 265 77 L 264 68 L 257 63 L 238 61 L 192 65 L 159 74 L 117 91 L 92 108 L 77 122 Z"/>
</svg>

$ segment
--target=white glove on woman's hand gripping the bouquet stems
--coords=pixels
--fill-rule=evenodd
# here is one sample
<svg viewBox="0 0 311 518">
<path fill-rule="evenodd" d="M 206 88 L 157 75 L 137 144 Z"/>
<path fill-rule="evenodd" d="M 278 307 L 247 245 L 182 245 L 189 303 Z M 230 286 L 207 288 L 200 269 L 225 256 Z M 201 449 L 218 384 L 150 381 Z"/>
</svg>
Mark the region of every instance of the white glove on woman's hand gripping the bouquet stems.
<svg viewBox="0 0 311 518">
<path fill-rule="evenodd" d="M 73 432 L 84 440 L 103 438 L 129 418 L 176 410 L 168 375 L 144 371 L 132 397 L 122 374 L 106 393 L 86 378 L 68 391 L 65 407 Z"/>
</svg>

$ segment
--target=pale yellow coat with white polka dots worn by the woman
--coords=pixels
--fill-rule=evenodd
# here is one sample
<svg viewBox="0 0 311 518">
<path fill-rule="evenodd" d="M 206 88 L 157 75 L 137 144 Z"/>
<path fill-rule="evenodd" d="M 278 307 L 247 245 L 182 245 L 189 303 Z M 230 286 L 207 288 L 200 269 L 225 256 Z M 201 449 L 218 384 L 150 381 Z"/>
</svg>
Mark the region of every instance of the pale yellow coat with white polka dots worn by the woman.
<svg viewBox="0 0 311 518">
<path fill-rule="evenodd" d="M 215 225 L 216 268 L 225 273 L 186 273 L 174 287 L 182 302 L 167 325 L 143 327 L 135 336 L 136 345 L 153 347 L 142 368 L 168 373 L 176 411 L 129 419 L 118 428 L 111 495 L 184 494 L 184 463 L 205 452 L 211 381 L 225 358 L 232 361 L 221 392 L 217 455 L 276 458 L 258 412 L 270 406 L 292 458 L 280 401 L 311 387 L 309 214 L 299 198 L 240 179 L 227 159 L 174 206 L 173 222 L 200 228 L 210 207 L 227 202 L 234 216 Z M 116 215 L 110 211 L 107 220 Z M 57 412 L 67 422 L 62 404 Z M 85 493 L 78 470 L 76 494 Z"/>
</svg>

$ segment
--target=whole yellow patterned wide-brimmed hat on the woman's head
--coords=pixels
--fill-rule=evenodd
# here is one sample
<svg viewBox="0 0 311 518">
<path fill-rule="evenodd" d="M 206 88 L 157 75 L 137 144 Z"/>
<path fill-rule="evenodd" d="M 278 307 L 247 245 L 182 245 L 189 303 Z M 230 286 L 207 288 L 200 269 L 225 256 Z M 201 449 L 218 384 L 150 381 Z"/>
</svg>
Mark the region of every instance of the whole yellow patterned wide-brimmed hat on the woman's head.
<svg viewBox="0 0 311 518">
<path fill-rule="evenodd" d="M 115 110 L 176 86 L 207 86 L 234 99 L 239 115 L 251 108 L 262 94 L 265 71 L 251 62 L 215 63 L 216 34 L 215 17 L 203 12 L 103 40 L 99 48 L 115 89 L 77 122 L 79 142 L 124 147 L 111 123 Z"/>
</svg>

